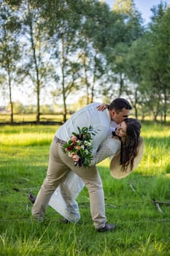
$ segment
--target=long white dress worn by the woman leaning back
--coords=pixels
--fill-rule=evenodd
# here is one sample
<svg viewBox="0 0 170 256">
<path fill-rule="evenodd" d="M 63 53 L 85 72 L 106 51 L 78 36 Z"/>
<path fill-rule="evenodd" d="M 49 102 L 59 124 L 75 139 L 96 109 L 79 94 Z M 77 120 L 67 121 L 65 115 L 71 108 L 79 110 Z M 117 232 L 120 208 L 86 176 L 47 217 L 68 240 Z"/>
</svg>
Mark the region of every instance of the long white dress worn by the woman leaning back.
<svg viewBox="0 0 170 256">
<path fill-rule="evenodd" d="M 96 165 L 107 157 L 113 157 L 120 151 L 120 140 L 107 138 L 101 143 L 97 153 L 93 156 L 91 165 Z M 79 207 L 76 201 L 77 195 L 81 192 L 85 184 L 82 178 L 77 176 L 72 170 L 61 182 L 52 197 L 49 206 L 58 211 L 64 218 L 70 222 L 78 222 L 80 219 Z"/>
</svg>

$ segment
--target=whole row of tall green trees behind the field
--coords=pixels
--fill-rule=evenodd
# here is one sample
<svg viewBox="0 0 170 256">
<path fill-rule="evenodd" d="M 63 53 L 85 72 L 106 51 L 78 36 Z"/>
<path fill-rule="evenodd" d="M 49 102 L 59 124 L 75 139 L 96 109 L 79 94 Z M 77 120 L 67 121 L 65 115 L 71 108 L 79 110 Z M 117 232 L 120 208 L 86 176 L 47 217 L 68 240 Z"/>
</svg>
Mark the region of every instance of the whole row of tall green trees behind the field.
<svg viewBox="0 0 170 256">
<path fill-rule="evenodd" d="M 18 86 L 41 102 L 70 95 L 110 102 L 125 97 L 136 118 L 152 113 L 166 121 L 170 94 L 170 8 L 152 7 L 144 26 L 133 0 L 117 0 L 113 10 L 96 0 L 7 0 L 0 4 L 0 94 L 9 100 Z M 1 104 L 0 104 L 1 105 Z"/>
</svg>

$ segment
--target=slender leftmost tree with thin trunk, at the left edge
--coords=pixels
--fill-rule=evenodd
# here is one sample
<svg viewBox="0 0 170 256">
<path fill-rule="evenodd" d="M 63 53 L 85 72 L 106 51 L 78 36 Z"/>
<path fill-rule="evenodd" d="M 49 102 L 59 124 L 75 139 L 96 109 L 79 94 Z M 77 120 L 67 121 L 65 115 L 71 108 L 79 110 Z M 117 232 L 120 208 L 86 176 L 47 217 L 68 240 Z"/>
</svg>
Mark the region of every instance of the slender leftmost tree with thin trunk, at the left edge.
<svg viewBox="0 0 170 256">
<path fill-rule="evenodd" d="M 20 48 L 18 42 L 18 33 L 20 24 L 18 16 L 12 12 L 9 5 L 3 1 L 0 6 L 0 75 L 3 78 L 3 85 L 7 86 L 10 105 L 10 121 L 13 122 L 13 101 L 12 93 L 15 83 L 18 82 L 18 61 L 20 60 Z"/>
</svg>

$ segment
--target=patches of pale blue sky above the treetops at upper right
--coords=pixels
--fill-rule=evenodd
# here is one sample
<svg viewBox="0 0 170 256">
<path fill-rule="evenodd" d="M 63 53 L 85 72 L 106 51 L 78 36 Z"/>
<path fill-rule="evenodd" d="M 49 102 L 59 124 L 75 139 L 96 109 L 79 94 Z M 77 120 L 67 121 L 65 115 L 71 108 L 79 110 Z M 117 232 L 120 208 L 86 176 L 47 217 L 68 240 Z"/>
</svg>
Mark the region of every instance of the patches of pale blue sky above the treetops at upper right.
<svg viewBox="0 0 170 256">
<path fill-rule="evenodd" d="M 105 2 L 112 9 L 113 4 L 115 4 L 116 0 L 105 0 Z M 165 1 L 162 1 L 165 3 Z M 150 17 L 152 16 L 152 12 L 150 9 L 153 6 L 157 6 L 161 3 L 161 0 L 134 0 L 136 8 L 139 12 L 142 13 L 142 18 L 144 19 L 144 23 L 147 24 L 150 22 Z M 166 4 L 170 4 L 170 0 L 166 0 Z"/>
</svg>

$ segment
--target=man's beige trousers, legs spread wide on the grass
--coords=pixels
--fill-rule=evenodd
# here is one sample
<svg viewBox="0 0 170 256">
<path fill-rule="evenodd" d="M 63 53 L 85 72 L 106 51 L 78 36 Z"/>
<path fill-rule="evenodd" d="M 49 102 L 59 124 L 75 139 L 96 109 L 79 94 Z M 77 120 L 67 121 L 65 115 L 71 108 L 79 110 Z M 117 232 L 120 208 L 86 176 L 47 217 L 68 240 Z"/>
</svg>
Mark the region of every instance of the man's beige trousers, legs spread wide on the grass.
<svg viewBox="0 0 170 256">
<path fill-rule="evenodd" d="M 96 165 L 88 168 L 74 166 L 72 158 L 63 153 L 61 144 L 56 143 L 55 140 L 53 140 L 50 146 L 47 176 L 36 197 L 36 202 L 32 208 L 32 215 L 40 221 L 44 219 L 45 210 L 51 195 L 70 170 L 77 173 L 88 188 L 90 213 L 94 226 L 96 228 L 104 227 L 107 222 L 105 217 L 104 190 Z"/>
</svg>

